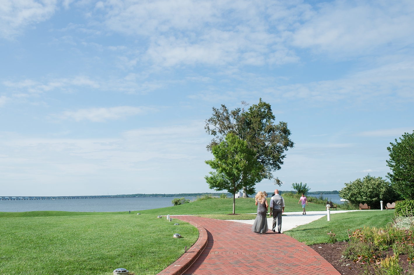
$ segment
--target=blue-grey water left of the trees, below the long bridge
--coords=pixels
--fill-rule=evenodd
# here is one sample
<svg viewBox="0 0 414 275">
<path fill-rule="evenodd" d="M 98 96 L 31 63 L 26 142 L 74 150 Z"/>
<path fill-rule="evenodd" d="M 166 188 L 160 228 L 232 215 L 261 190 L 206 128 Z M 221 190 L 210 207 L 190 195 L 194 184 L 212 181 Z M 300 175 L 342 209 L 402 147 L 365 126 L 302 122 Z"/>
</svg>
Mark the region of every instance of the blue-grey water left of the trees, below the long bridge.
<svg viewBox="0 0 414 275">
<path fill-rule="evenodd" d="M 71 200 L 15 200 L 0 201 L 0 212 L 79 211 L 117 212 L 146 210 L 173 206 L 174 197 L 163 198 L 87 198 Z M 189 200 L 196 197 L 186 197 Z"/>
</svg>

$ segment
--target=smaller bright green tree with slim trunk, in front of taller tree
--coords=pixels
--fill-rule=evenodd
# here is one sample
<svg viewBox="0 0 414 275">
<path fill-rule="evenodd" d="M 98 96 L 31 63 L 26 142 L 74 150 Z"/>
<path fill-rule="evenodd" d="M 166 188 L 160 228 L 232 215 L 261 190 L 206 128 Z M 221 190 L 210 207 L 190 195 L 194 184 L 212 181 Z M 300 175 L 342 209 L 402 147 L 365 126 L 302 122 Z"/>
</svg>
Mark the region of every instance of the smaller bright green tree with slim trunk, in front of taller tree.
<svg viewBox="0 0 414 275">
<path fill-rule="evenodd" d="M 212 146 L 213 160 L 206 163 L 216 172 L 205 176 L 210 189 L 227 190 L 233 194 L 233 214 L 235 213 L 236 193 L 253 188 L 262 178 L 263 166 L 255 158 L 255 153 L 248 148 L 247 142 L 229 133 L 220 143 Z"/>
</svg>

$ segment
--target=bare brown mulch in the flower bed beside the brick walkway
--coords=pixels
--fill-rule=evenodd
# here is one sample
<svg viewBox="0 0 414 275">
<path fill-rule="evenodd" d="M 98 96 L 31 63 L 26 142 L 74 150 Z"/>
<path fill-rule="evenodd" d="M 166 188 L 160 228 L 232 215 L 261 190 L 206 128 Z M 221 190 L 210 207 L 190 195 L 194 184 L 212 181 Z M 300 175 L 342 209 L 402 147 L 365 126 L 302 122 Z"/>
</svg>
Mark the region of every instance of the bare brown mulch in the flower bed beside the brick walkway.
<svg viewBox="0 0 414 275">
<path fill-rule="evenodd" d="M 354 263 L 352 260 L 346 260 L 342 258 L 342 251 L 347 247 L 347 242 L 336 242 L 335 244 L 313 244 L 310 247 L 318 252 L 320 256 L 325 258 L 331 265 L 333 265 L 336 270 L 338 270 L 343 275 L 356 275 L 362 274 L 362 268 L 359 263 Z M 319 248 L 322 247 L 322 248 Z M 388 251 L 383 251 L 382 256 L 385 258 L 387 255 L 392 256 L 394 253 L 392 249 Z M 408 269 L 407 256 L 399 256 L 400 266 L 404 269 Z"/>
</svg>

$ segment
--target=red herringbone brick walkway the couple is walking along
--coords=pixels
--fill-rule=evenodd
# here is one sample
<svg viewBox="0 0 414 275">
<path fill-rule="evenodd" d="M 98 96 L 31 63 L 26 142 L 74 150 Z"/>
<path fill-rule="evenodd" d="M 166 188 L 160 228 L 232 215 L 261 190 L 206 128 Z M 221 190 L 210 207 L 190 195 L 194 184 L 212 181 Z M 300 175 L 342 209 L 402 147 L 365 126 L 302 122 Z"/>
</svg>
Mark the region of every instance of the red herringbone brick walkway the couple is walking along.
<svg viewBox="0 0 414 275">
<path fill-rule="evenodd" d="M 316 251 L 285 234 L 256 234 L 251 225 L 226 220 L 174 218 L 202 226 L 208 234 L 205 250 L 184 275 L 341 274 Z"/>
</svg>

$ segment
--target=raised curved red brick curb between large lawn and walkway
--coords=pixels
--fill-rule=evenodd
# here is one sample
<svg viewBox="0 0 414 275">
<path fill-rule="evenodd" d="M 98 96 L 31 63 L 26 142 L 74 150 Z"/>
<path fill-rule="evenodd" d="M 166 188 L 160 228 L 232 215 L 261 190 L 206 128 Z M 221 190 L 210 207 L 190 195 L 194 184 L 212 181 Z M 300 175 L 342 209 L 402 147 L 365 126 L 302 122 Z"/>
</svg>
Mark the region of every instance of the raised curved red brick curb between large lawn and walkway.
<svg viewBox="0 0 414 275">
<path fill-rule="evenodd" d="M 189 223 L 194 225 L 193 222 Z M 194 226 L 197 227 L 197 225 Z M 197 227 L 197 229 L 197 242 L 195 242 L 195 244 L 193 244 L 193 246 L 191 246 L 190 249 L 183 254 L 183 256 L 178 258 L 177 261 L 171 263 L 171 265 L 168 265 L 166 269 L 162 270 L 157 275 L 181 275 L 197 260 L 207 246 L 207 230 L 205 230 L 204 227 Z"/>
</svg>

